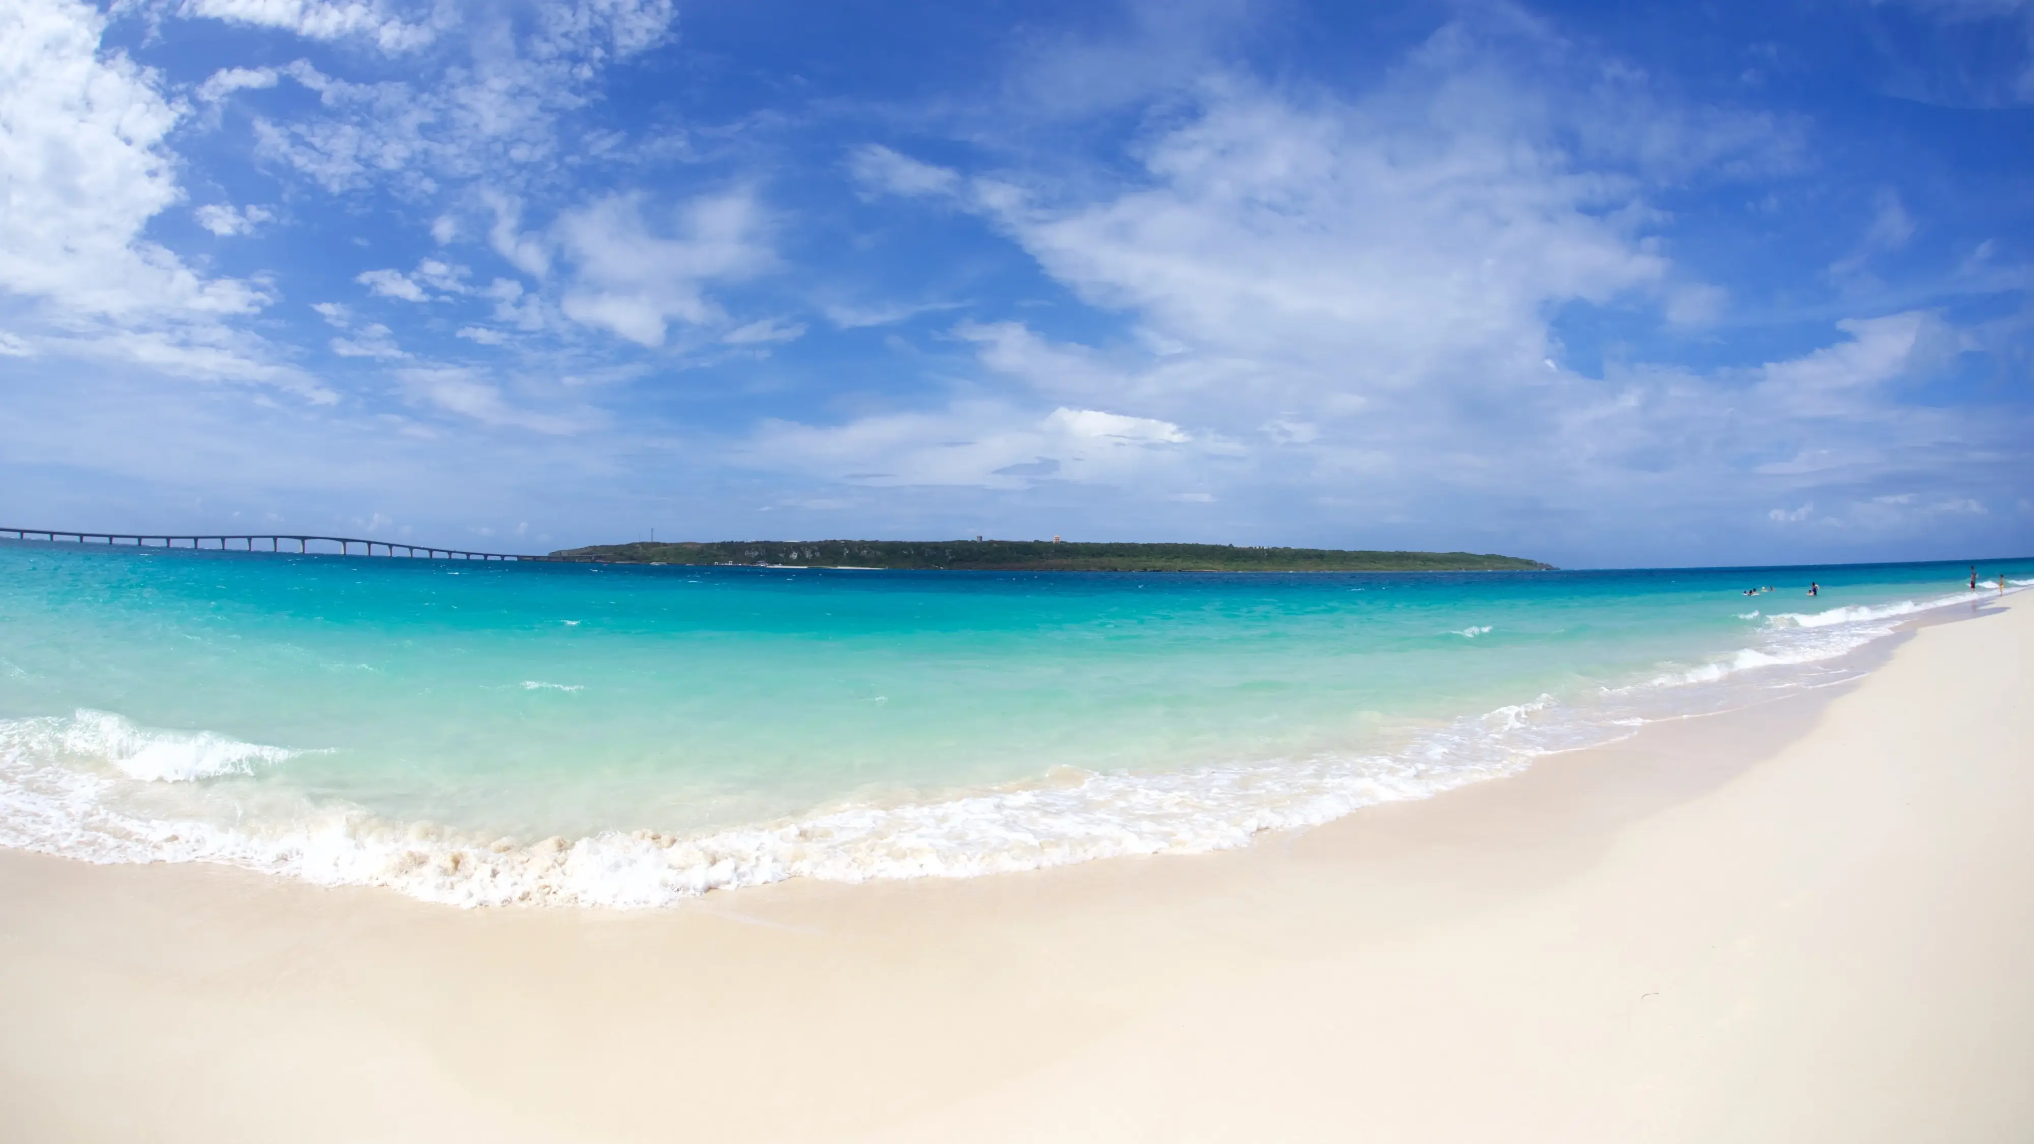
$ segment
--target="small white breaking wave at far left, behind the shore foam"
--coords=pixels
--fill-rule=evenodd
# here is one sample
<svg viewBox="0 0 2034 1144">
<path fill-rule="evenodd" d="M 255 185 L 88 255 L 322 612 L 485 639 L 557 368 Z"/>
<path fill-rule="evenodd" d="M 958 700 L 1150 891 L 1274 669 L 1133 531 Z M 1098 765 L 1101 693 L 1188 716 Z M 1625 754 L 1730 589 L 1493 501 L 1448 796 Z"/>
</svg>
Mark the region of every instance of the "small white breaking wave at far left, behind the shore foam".
<svg viewBox="0 0 2034 1144">
<path fill-rule="evenodd" d="M 254 774 L 303 751 L 242 743 L 212 731 L 136 727 L 110 710 L 77 708 L 67 719 L 0 721 L 0 753 L 55 755 L 110 763 L 142 782 L 193 782 Z"/>
</svg>

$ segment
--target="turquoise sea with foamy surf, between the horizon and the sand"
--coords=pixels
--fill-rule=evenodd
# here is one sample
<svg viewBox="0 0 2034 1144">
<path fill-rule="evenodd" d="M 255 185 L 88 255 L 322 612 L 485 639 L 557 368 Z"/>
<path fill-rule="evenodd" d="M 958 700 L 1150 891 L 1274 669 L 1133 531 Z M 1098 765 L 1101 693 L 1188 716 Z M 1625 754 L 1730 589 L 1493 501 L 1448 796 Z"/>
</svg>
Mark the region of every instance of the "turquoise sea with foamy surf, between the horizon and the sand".
<svg viewBox="0 0 2034 1144">
<path fill-rule="evenodd" d="M 2034 562 L 1981 572 L 2034 582 Z M 1904 617 L 1991 598 L 1965 576 L 0 544 L 0 845 L 624 908 L 1206 851 L 1827 686 Z"/>
</svg>

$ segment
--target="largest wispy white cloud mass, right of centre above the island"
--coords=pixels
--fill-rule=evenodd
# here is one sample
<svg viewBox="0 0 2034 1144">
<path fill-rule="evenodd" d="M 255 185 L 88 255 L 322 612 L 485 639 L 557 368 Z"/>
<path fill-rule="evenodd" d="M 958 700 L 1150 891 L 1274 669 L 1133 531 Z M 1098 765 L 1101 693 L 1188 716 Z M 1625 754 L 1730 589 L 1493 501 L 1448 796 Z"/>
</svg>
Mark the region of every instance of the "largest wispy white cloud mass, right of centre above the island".
<svg viewBox="0 0 2034 1144">
<path fill-rule="evenodd" d="M 1471 26 L 1507 18 L 1517 26 Z M 1359 96 L 1273 88 L 1208 59 L 1149 73 L 1139 81 L 1178 85 L 1139 96 L 1159 110 L 1125 155 L 1131 175 L 1109 161 L 1068 169 L 1064 151 L 1031 163 L 1021 142 L 1015 173 L 999 175 L 854 151 L 864 191 L 989 218 L 1090 307 L 1121 316 L 1121 332 L 1080 344 L 1041 322 L 960 322 L 952 336 L 984 366 L 972 385 L 1013 397 L 972 389 L 944 411 L 773 423 L 759 440 L 860 482 L 1186 487 L 1224 503 L 1283 487 L 1371 515 L 1430 515 L 1420 505 L 1471 495 L 1517 521 L 1546 503 L 1595 511 L 1658 495 L 1650 476 L 1611 480 L 1631 466 L 1717 464 L 1676 440 L 1676 421 L 1694 407 L 1702 432 L 1727 438 L 1719 387 L 1757 379 L 1589 379 L 1558 364 L 1552 324 L 1574 303 L 1717 322 L 1729 295 L 1668 259 L 1648 195 L 1788 169 L 1796 128 L 1676 104 L 1528 24 L 1464 16 Z M 1039 405 L 1060 411 L 1039 423 Z M 1121 458 L 1078 452 L 1078 430 L 1102 417 L 1131 421 L 1100 440 L 1157 436 Z M 1170 468 L 1176 456 L 1194 458 L 1192 480 Z"/>
</svg>

